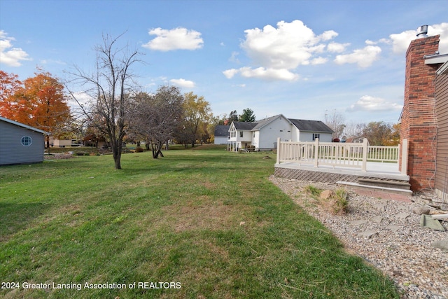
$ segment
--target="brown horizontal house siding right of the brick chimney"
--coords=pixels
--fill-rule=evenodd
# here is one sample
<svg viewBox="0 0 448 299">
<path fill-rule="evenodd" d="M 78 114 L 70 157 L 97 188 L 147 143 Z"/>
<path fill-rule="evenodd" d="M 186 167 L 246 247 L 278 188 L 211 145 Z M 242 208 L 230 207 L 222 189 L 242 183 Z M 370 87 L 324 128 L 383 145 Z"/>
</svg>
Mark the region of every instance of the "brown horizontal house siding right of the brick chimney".
<svg viewBox="0 0 448 299">
<path fill-rule="evenodd" d="M 448 196 L 448 71 L 437 76 L 435 81 L 437 113 L 437 154 L 435 188 Z"/>
</svg>

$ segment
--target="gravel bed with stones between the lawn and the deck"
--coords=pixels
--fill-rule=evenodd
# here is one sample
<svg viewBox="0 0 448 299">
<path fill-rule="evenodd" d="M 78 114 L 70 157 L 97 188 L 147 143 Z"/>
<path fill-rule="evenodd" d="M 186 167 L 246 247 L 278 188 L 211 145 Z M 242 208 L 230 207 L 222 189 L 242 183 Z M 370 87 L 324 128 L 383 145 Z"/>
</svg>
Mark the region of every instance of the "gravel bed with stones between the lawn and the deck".
<svg viewBox="0 0 448 299">
<path fill-rule="evenodd" d="M 302 192 L 312 185 L 335 190 L 335 184 L 269 178 L 307 213 L 321 221 L 355 253 L 391 277 L 402 292 L 401 298 L 448 298 L 448 252 L 432 247 L 432 242 L 448 239 L 448 232 L 421 228 L 414 207 L 428 207 L 426 199 L 435 195 L 412 196 L 412 202 L 398 202 L 360 196 L 349 191 L 348 213 L 331 215 L 316 200 Z M 430 208 L 431 213 L 435 209 Z M 445 230 L 448 222 L 440 221 Z"/>
</svg>

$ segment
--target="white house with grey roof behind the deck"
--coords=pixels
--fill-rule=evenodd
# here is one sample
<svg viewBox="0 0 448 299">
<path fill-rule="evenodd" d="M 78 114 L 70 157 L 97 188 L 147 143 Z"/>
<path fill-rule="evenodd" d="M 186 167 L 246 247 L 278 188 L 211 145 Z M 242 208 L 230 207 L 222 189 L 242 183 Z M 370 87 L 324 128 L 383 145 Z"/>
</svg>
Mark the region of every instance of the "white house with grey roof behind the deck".
<svg viewBox="0 0 448 299">
<path fill-rule="evenodd" d="M 241 148 L 255 151 L 276 148 L 277 138 L 282 141 L 332 141 L 332 130 L 320 120 L 286 118 L 282 114 L 255 123 L 232 122 L 229 128 L 228 151 Z"/>
</svg>

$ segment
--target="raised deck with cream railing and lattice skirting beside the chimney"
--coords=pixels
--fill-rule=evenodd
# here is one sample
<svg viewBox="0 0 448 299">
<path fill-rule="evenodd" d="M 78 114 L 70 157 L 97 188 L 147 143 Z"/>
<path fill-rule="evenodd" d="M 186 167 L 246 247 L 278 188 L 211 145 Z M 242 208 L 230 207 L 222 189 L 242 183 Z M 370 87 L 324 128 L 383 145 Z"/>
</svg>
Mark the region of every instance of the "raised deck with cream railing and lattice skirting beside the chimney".
<svg viewBox="0 0 448 299">
<path fill-rule="evenodd" d="M 357 183 L 360 178 L 409 183 L 407 159 L 399 159 L 400 153 L 407 157 L 407 140 L 402 146 L 369 146 L 367 139 L 362 144 L 278 139 L 277 145 L 276 176 L 324 183 Z"/>
</svg>

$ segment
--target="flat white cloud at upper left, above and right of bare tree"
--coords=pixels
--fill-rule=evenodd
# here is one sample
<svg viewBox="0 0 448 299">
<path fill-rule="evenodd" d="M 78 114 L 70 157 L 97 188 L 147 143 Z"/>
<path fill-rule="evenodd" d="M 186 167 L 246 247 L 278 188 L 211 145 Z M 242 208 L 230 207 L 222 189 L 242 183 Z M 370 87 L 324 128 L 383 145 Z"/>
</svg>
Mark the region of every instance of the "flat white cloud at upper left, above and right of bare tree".
<svg viewBox="0 0 448 299">
<path fill-rule="evenodd" d="M 151 29 L 149 35 L 157 36 L 143 45 L 143 47 L 151 50 L 197 50 L 204 46 L 200 32 L 182 27 L 171 30 L 159 27 Z"/>
</svg>

